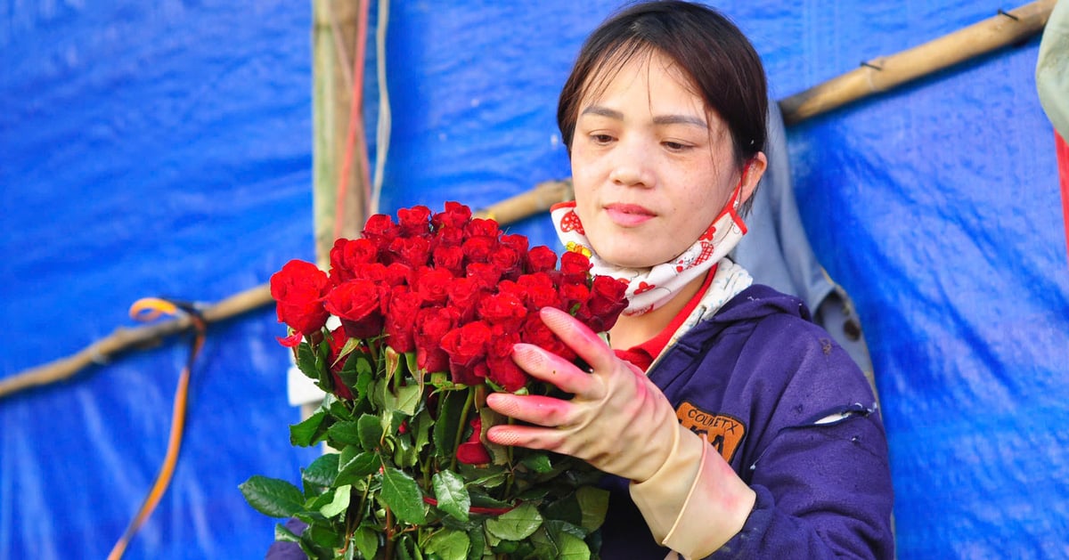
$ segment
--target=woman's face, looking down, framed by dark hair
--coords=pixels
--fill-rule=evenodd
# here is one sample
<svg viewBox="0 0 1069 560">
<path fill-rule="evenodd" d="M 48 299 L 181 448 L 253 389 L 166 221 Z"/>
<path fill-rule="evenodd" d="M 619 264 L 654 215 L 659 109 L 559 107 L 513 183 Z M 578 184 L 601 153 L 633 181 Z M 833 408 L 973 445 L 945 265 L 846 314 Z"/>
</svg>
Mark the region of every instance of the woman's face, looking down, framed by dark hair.
<svg viewBox="0 0 1069 560">
<path fill-rule="evenodd" d="M 687 81 L 662 55 L 636 56 L 579 104 L 575 211 L 594 251 L 617 266 L 679 255 L 739 183 L 727 126 Z"/>
</svg>

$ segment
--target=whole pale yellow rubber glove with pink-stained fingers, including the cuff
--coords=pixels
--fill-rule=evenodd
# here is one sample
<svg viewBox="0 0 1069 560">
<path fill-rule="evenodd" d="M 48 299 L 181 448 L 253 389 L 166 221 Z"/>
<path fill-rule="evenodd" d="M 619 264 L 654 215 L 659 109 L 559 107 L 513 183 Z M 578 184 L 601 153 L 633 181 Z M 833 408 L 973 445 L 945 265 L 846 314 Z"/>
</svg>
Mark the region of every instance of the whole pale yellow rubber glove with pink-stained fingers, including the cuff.
<svg viewBox="0 0 1069 560">
<path fill-rule="evenodd" d="M 553 308 L 540 313 L 592 371 L 538 346 L 516 344 L 512 358 L 517 365 L 574 396 L 491 393 L 487 406 L 536 425 L 496 425 L 486 437 L 572 455 L 630 479 L 632 498 L 654 538 L 685 557 L 711 554 L 738 533 L 754 507 L 754 491 L 718 453 L 709 452 L 702 438 L 679 424 L 668 399 L 641 370 L 618 358 L 568 313 Z"/>
</svg>

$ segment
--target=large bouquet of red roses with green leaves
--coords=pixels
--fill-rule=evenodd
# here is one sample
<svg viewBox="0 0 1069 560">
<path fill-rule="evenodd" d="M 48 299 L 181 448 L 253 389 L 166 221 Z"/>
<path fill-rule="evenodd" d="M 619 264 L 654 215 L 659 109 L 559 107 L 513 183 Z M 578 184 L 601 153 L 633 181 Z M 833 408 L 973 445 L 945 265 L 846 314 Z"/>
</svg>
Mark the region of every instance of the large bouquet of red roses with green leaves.
<svg viewBox="0 0 1069 560">
<path fill-rule="evenodd" d="M 577 359 L 539 309 L 606 331 L 624 289 L 591 277 L 582 253 L 563 253 L 558 268 L 552 249 L 455 202 L 372 216 L 361 238 L 335 243 L 329 274 L 290 261 L 270 279 L 289 327 L 279 340 L 327 393 L 291 441 L 329 452 L 303 470 L 303 488 L 253 476 L 242 493 L 264 514 L 306 523 L 300 535 L 279 525 L 276 539 L 310 558 L 597 557 L 600 473 L 487 441 L 509 419 L 483 404 L 490 391 L 557 392 L 513 363 L 517 342 Z"/>
</svg>

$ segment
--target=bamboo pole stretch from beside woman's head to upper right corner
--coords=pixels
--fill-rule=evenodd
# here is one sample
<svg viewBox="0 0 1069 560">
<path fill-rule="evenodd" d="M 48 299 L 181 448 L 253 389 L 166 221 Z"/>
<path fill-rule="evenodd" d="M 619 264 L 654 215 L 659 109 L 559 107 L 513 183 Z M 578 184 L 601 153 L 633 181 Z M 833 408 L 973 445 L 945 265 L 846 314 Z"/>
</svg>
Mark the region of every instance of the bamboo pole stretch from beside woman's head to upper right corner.
<svg viewBox="0 0 1069 560">
<path fill-rule="evenodd" d="M 1039 0 L 888 57 L 781 99 L 788 125 L 1012 45 L 1042 31 L 1056 0 Z"/>
</svg>

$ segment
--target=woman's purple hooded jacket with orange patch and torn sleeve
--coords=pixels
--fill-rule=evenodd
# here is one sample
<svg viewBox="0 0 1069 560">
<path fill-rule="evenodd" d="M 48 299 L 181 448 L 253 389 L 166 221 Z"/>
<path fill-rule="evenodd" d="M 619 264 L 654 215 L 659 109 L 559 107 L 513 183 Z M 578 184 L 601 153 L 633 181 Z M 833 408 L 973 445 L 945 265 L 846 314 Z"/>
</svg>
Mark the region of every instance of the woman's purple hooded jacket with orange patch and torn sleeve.
<svg viewBox="0 0 1069 560">
<path fill-rule="evenodd" d="M 894 496 L 876 398 L 804 304 L 753 285 L 665 349 L 650 378 L 680 421 L 757 493 L 710 558 L 894 558 Z M 602 557 L 662 559 L 613 477 Z"/>
</svg>

